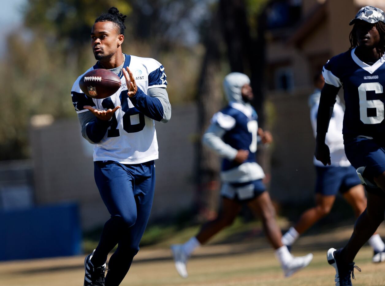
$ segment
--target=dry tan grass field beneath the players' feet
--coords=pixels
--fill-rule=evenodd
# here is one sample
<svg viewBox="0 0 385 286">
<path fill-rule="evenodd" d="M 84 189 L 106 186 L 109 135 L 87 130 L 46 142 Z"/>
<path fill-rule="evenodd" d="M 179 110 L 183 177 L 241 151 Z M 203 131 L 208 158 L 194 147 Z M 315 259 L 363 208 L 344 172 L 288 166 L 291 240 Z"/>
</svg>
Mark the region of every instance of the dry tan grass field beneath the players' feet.
<svg viewBox="0 0 385 286">
<path fill-rule="evenodd" d="M 273 251 L 259 235 L 241 243 L 209 244 L 188 263 L 189 277 L 182 279 L 174 269 L 169 249 L 164 246 L 144 247 L 139 251 L 122 286 L 149 285 L 334 285 L 334 269 L 326 261 L 326 250 L 340 247 L 350 236 L 352 226 L 334 228 L 323 234 L 304 236 L 298 240 L 293 254 L 314 254 L 311 264 L 290 278 L 283 273 Z M 385 237 L 385 228 L 380 228 Z M 385 263 L 371 263 L 372 250 L 365 246 L 355 262 L 353 285 L 384 285 Z M 83 285 L 84 256 L 35 259 L 0 263 L 2 286 L 72 286 Z"/>
</svg>

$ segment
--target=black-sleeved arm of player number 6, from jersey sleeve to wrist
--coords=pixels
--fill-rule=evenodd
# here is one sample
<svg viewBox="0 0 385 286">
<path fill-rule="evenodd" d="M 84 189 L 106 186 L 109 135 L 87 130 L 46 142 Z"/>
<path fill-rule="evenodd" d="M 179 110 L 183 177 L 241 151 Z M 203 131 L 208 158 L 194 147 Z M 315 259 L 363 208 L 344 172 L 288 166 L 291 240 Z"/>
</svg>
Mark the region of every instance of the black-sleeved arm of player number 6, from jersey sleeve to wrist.
<svg viewBox="0 0 385 286">
<path fill-rule="evenodd" d="M 321 91 L 320 104 L 317 113 L 317 141 L 325 142 L 325 135 L 329 128 L 330 118 L 333 115 L 333 107 L 339 88 L 325 84 Z"/>
</svg>

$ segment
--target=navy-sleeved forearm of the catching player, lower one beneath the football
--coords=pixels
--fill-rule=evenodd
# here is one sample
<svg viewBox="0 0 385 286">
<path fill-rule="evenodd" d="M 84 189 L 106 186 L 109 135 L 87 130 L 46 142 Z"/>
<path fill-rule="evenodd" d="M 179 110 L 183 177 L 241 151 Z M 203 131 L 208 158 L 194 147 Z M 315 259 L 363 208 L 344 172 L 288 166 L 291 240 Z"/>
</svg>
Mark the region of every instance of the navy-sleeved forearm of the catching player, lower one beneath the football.
<svg viewBox="0 0 385 286">
<path fill-rule="evenodd" d="M 82 136 L 91 144 L 99 143 L 112 124 L 112 120 L 100 120 L 89 111 L 79 113 L 78 118 L 82 125 Z"/>
</svg>

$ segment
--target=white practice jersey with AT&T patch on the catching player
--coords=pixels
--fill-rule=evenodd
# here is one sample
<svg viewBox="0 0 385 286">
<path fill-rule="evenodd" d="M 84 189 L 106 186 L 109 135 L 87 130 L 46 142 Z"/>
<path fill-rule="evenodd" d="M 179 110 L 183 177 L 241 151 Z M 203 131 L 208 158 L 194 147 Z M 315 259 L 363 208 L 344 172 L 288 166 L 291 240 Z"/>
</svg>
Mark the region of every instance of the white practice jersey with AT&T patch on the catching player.
<svg viewBox="0 0 385 286">
<path fill-rule="evenodd" d="M 124 67 L 129 67 L 138 88 L 144 93 L 147 94 L 147 90 L 153 87 L 166 88 L 166 74 L 161 63 L 152 58 L 125 56 Z M 96 64 L 85 73 L 96 68 L 101 67 Z M 123 164 L 139 164 L 157 159 L 155 122 L 137 110 L 128 98 L 126 78 L 122 72 L 119 74 L 121 87 L 116 93 L 104 99 L 89 98 L 80 90 L 79 81 L 83 75 L 77 78 L 71 90 L 77 113 L 90 112 L 83 108 L 84 105 L 91 105 L 101 110 L 121 106 L 115 111 L 113 123 L 104 138 L 94 145 L 94 161 L 112 160 Z"/>
</svg>

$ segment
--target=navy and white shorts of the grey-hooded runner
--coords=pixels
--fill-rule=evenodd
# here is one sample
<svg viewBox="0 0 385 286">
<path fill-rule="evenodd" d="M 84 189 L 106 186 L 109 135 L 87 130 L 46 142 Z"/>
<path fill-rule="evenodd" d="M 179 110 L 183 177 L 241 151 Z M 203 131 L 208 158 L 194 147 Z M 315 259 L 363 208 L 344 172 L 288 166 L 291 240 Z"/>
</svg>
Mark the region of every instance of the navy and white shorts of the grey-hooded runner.
<svg viewBox="0 0 385 286">
<path fill-rule="evenodd" d="M 258 197 L 264 191 L 266 186 L 261 179 L 245 183 L 223 183 L 221 196 L 230 200 L 248 201 Z"/>
</svg>

